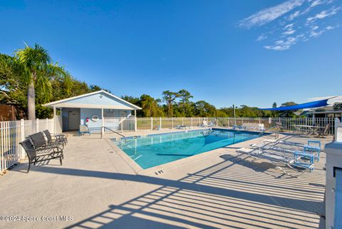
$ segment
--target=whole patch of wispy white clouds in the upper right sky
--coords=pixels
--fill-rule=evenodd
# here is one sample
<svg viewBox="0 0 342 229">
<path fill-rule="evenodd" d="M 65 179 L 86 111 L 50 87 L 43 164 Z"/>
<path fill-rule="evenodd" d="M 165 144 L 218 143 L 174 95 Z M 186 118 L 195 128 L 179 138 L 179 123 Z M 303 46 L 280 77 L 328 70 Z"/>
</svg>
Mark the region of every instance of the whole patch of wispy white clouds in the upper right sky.
<svg viewBox="0 0 342 229">
<path fill-rule="evenodd" d="M 342 0 L 284 0 L 282 4 L 239 21 L 239 26 L 247 29 L 260 26 L 264 30 L 256 41 L 262 43 L 265 49 L 284 51 L 299 42 L 309 41 L 326 31 L 342 27 L 339 22 L 341 18 L 334 16 L 335 19 L 328 19 L 340 12 Z"/>
</svg>

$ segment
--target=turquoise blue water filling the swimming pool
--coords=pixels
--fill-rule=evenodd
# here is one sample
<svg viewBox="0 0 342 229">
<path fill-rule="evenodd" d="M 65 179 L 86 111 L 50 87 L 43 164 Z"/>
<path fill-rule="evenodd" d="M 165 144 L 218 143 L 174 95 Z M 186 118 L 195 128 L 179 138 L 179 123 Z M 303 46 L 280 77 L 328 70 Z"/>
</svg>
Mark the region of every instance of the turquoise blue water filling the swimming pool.
<svg viewBox="0 0 342 229">
<path fill-rule="evenodd" d="M 258 137 L 259 133 L 213 129 L 127 138 L 114 143 L 145 169 Z"/>
</svg>

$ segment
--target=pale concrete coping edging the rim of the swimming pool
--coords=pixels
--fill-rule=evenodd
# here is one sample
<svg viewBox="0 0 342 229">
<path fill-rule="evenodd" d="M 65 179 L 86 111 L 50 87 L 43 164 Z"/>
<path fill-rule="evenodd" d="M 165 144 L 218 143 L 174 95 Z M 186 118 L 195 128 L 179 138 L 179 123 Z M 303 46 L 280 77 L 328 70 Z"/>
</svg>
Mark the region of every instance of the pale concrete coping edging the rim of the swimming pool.
<svg viewBox="0 0 342 229">
<path fill-rule="evenodd" d="M 221 129 L 221 128 L 219 128 Z M 231 129 L 227 129 L 227 128 L 222 128 L 222 130 L 231 130 Z M 203 129 L 204 131 L 205 130 L 208 130 L 208 129 Z M 192 131 L 199 131 L 199 130 L 192 130 Z M 200 130 L 202 131 L 202 130 Z M 234 131 L 234 130 L 232 130 Z M 257 133 L 255 131 L 239 131 L 239 132 L 249 132 L 249 133 Z M 186 131 L 179 131 L 179 132 L 172 132 L 172 133 L 186 133 Z M 164 134 L 170 134 L 170 133 L 161 133 L 162 135 Z M 249 139 L 247 141 L 241 141 L 239 143 L 234 143 L 232 145 L 229 145 L 230 147 L 232 146 L 235 146 L 235 145 L 238 145 L 240 143 L 249 143 L 249 141 L 256 141 L 257 139 L 259 138 L 263 138 L 263 137 L 266 137 L 266 136 L 269 136 L 270 133 L 267 133 L 267 135 L 265 136 L 259 136 L 257 138 L 252 138 L 252 139 Z M 159 134 L 150 134 L 150 135 L 145 135 L 145 136 L 155 136 L 155 135 L 159 135 Z M 133 138 L 130 137 L 130 138 Z M 214 150 L 212 151 L 206 151 L 206 152 L 203 152 L 203 153 L 199 153 L 197 155 L 194 155 L 194 156 L 190 156 L 190 157 L 187 157 L 187 158 L 182 158 L 182 159 L 178 159 L 176 161 L 170 161 L 168 163 L 164 163 L 162 165 L 158 165 L 158 166 L 153 166 L 151 168 L 142 168 L 138 165 L 138 163 L 136 163 L 132 158 L 130 158 L 130 156 L 128 156 L 122 149 L 120 149 L 118 146 L 115 145 L 114 141 L 112 141 L 113 138 L 107 138 L 105 139 L 108 144 L 113 148 L 113 150 L 118 153 L 118 155 L 123 158 L 123 160 L 128 164 L 128 166 L 130 166 L 130 168 L 133 169 L 133 171 L 136 173 L 136 174 L 145 174 L 145 173 L 155 173 L 157 175 L 158 172 L 162 171 L 163 169 L 165 168 L 170 168 L 170 167 L 173 167 L 173 166 L 177 166 L 177 163 L 181 163 L 182 166 L 184 166 L 185 164 L 187 163 L 193 163 L 194 161 L 199 161 L 201 158 L 205 158 L 205 157 L 208 157 L 208 156 L 211 156 L 213 153 L 214 154 L 217 154 L 219 153 L 219 155 L 222 155 L 224 153 L 222 152 L 219 152 L 219 151 L 222 151 L 222 149 L 224 149 L 225 147 L 227 146 L 224 146 L 224 147 L 221 147 L 221 148 L 215 148 Z M 255 142 L 254 142 L 255 143 Z M 250 145 L 250 144 L 249 144 Z"/>
</svg>

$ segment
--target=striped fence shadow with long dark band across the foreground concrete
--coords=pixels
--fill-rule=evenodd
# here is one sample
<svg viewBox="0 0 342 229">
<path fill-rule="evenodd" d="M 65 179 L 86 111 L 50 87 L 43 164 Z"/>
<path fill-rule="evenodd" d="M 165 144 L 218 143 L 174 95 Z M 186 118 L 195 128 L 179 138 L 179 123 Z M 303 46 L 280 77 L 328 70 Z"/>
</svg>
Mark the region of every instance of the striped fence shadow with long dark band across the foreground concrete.
<svg viewBox="0 0 342 229">
<path fill-rule="evenodd" d="M 221 158 L 221 163 L 180 180 L 61 167 L 36 172 L 160 185 L 68 228 L 318 228 L 321 187 L 306 188 L 293 178 L 275 182 L 264 173 L 264 164 Z"/>
</svg>

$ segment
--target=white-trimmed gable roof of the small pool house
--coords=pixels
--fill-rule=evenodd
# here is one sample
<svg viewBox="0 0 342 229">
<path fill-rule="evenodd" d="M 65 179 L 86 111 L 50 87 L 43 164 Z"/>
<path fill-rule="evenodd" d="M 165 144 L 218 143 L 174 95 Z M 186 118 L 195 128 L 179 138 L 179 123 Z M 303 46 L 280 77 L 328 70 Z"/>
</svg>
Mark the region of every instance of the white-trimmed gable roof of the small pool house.
<svg viewBox="0 0 342 229">
<path fill-rule="evenodd" d="M 122 105 L 118 106 L 114 106 L 114 105 L 100 105 L 100 104 L 86 104 L 86 103 L 71 103 L 71 101 L 77 101 L 77 100 L 81 100 L 83 98 L 86 98 L 88 96 L 93 96 L 96 94 L 104 94 L 105 96 L 113 99 L 113 101 L 118 101 L 119 103 L 121 103 Z M 123 100 L 122 98 L 118 97 L 118 96 L 114 96 L 112 93 L 109 93 L 107 91 L 104 90 L 100 90 L 100 91 L 94 91 L 91 93 L 86 93 L 83 94 L 81 96 L 73 96 L 71 98 L 64 98 L 58 101 L 53 101 L 51 103 L 46 103 L 43 104 L 43 106 L 48 106 L 48 107 L 73 107 L 73 108 L 113 108 L 113 109 L 131 109 L 131 110 L 140 110 L 141 108 L 139 106 L 135 106 L 132 103 L 129 103 L 128 101 Z"/>
</svg>

